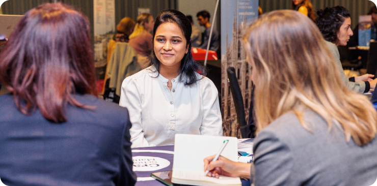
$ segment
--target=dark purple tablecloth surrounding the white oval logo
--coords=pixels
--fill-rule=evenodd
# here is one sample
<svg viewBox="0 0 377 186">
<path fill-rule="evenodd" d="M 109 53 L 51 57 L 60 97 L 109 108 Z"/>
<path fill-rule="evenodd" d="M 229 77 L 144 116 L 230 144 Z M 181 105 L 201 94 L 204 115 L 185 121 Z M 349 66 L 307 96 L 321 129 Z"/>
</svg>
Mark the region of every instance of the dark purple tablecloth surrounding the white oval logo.
<svg viewBox="0 0 377 186">
<path fill-rule="evenodd" d="M 136 152 L 136 150 L 142 150 L 141 152 Z M 163 150 L 159 152 L 153 152 L 153 150 Z M 158 157 L 166 159 L 170 162 L 170 165 L 166 168 L 162 168 L 156 171 L 135 171 L 138 176 L 138 181 L 136 186 L 164 186 L 163 183 L 152 179 L 150 173 L 159 172 L 159 171 L 169 171 L 173 168 L 173 157 L 174 155 L 170 152 L 174 152 L 174 145 L 167 146 L 155 146 L 155 147 L 141 147 L 141 148 L 132 148 L 132 157 L 144 156 L 144 157 Z M 152 179 L 152 180 L 149 180 Z M 241 179 L 243 186 L 250 186 L 250 181 Z"/>
</svg>

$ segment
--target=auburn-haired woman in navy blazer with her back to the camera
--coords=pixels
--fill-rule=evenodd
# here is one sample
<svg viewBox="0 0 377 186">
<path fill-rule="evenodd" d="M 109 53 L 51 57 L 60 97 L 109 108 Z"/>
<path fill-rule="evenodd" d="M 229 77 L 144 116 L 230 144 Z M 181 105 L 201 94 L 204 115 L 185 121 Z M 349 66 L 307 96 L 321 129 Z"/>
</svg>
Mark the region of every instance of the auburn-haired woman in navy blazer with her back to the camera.
<svg viewBox="0 0 377 186">
<path fill-rule="evenodd" d="M 0 179 L 5 185 L 134 185 L 125 108 L 99 100 L 88 18 L 43 4 L 0 54 Z"/>
</svg>

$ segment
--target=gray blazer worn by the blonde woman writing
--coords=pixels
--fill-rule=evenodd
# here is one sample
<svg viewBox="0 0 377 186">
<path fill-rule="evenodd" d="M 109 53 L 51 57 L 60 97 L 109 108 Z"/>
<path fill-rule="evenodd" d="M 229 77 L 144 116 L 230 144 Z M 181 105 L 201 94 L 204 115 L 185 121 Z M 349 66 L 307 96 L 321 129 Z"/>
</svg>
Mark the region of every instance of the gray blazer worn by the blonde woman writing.
<svg viewBox="0 0 377 186">
<path fill-rule="evenodd" d="M 304 119 L 286 113 L 254 140 L 251 181 L 255 185 L 371 185 L 377 180 L 377 138 L 358 146 L 313 111 Z"/>
</svg>

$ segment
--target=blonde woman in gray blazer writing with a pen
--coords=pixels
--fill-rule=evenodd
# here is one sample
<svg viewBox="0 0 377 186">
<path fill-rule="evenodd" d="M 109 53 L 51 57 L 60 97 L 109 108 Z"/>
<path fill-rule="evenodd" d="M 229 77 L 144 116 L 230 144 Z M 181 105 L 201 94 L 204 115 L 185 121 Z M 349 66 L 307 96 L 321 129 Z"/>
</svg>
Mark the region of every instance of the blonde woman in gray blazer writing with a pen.
<svg viewBox="0 0 377 186">
<path fill-rule="evenodd" d="M 349 90 L 307 16 L 267 13 L 245 36 L 253 67 L 257 137 L 252 164 L 213 156 L 208 176 L 244 176 L 254 185 L 371 185 L 377 179 L 377 113 Z M 211 162 L 211 163 L 209 163 Z"/>
</svg>

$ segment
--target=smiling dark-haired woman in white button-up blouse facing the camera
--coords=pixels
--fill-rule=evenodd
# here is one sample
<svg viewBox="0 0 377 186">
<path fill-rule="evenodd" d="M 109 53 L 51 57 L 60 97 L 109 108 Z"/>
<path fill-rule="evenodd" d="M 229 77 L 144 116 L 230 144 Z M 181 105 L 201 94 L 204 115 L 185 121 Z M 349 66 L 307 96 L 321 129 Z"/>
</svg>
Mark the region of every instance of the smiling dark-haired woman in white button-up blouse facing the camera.
<svg viewBox="0 0 377 186">
<path fill-rule="evenodd" d="M 218 91 L 193 59 L 191 32 L 181 12 L 160 12 L 151 66 L 123 81 L 120 105 L 130 113 L 132 147 L 173 145 L 175 134 L 223 135 Z"/>
</svg>

